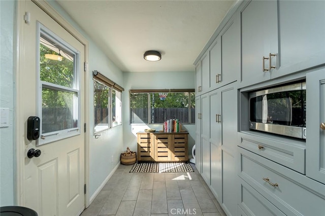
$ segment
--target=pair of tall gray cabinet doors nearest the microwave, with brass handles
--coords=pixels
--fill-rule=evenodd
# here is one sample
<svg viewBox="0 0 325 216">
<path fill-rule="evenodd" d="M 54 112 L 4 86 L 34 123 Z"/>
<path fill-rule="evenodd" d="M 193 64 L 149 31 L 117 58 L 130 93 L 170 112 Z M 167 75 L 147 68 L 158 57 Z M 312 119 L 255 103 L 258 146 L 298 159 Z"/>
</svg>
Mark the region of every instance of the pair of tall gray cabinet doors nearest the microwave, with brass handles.
<svg viewBox="0 0 325 216">
<path fill-rule="evenodd" d="M 237 89 L 227 85 L 209 93 L 210 188 L 228 215 L 237 215 Z"/>
</svg>

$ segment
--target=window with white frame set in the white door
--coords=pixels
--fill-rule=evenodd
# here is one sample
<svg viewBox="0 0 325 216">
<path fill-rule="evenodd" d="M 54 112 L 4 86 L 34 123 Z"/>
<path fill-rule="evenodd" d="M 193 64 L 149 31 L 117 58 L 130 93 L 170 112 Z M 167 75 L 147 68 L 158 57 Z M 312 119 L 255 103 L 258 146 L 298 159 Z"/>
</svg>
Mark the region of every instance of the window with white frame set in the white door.
<svg viewBox="0 0 325 216">
<path fill-rule="evenodd" d="M 39 26 L 39 145 L 80 134 L 80 55 L 46 27 Z"/>
</svg>

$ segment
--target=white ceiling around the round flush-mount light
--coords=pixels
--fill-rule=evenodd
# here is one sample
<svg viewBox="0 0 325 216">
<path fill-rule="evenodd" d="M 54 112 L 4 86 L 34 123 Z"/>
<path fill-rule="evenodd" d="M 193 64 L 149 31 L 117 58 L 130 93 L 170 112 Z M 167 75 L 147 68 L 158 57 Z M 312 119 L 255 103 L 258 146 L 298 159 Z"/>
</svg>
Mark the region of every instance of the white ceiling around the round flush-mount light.
<svg viewBox="0 0 325 216">
<path fill-rule="evenodd" d="M 226 1 L 57 1 L 106 55 L 127 72 L 193 71 L 225 14 Z M 143 59 L 157 50 L 161 60 Z"/>
</svg>

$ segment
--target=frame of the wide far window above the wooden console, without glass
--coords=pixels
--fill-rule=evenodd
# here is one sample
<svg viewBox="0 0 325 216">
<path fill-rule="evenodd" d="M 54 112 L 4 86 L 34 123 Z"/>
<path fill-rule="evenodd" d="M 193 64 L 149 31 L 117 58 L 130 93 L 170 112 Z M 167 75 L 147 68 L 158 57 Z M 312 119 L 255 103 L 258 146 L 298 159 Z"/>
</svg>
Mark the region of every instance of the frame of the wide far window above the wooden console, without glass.
<svg viewBox="0 0 325 216">
<path fill-rule="evenodd" d="M 129 100 L 131 103 L 131 94 L 133 93 L 143 93 L 143 94 L 148 94 L 147 96 L 147 109 L 148 109 L 148 122 L 147 123 L 132 123 L 132 112 L 131 112 L 131 107 L 129 107 L 130 109 L 130 122 L 129 124 L 131 125 L 152 125 L 152 124 L 164 124 L 164 123 L 150 123 L 151 122 L 151 99 L 150 99 L 150 94 L 152 93 L 160 93 L 160 92 L 168 92 L 168 93 L 189 93 L 189 97 L 188 97 L 188 123 L 183 123 L 182 124 L 195 124 L 195 122 L 191 121 L 191 94 L 190 93 L 194 93 L 195 94 L 195 89 L 131 89 L 129 90 Z M 195 97 L 195 96 L 194 96 Z M 195 113 L 195 111 L 194 111 Z"/>
</svg>

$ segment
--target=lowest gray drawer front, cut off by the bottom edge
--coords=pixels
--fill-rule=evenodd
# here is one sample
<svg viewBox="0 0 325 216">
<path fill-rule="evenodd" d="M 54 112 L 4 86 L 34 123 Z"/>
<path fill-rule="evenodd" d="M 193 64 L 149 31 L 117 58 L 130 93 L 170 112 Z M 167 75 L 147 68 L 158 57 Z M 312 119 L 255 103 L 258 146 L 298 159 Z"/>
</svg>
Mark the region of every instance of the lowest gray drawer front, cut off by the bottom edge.
<svg viewBox="0 0 325 216">
<path fill-rule="evenodd" d="M 242 213 L 240 215 L 285 215 L 270 201 L 243 181 L 243 179 L 240 179 L 240 196 L 238 197 L 239 208 L 244 212 L 244 214 Z"/>
</svg>

